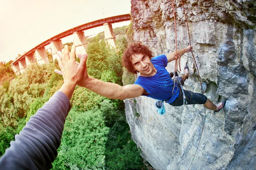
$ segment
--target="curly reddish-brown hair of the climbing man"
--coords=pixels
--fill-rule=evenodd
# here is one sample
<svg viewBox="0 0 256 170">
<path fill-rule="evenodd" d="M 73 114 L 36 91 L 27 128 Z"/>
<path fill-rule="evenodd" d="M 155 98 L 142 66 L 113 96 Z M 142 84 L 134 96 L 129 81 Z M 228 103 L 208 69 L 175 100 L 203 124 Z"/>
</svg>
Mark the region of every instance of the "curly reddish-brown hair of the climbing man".
<svg viewBox="0 0 256 170">
<path fill-rule="evenodd" d="M 134 42 L 125 49 L 124 54 L 122 55 L 122 65 L 127 69 L 127 71 L 132 74 L 137 74 L 138 71 L 134 70 L 131 59 L 133 54 L 145 54 L 150 59 L 154 57 L 154 52 L 152 52 L 146 45 L 140 41 Z"/>
</svg>

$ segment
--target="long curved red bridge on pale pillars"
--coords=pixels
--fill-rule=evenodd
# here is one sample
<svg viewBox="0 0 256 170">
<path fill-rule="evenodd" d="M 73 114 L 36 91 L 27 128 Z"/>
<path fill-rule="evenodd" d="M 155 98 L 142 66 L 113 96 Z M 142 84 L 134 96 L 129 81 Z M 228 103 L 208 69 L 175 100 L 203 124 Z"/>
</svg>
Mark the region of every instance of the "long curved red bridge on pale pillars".
<svg viewBox="0 0 256 170">
<path fill-rule="evenodd" d="M 113 35 L 112 23 L 119 23 L 123 21 L 131 20 L 130 14 L 123 14 L 114 17 L 108 17 L 101 20 L 96 20 L 90 23 L 83 24 L 81 26 L 77 26 L 75 28 L 71 28 L 67 31 L 62 32 L 61 34 L 55 35 L 52 38 L 42 42 L 41 44 L 35 46 L 31 50 L 27 51 L 14 62 L 12 62 L 12 69 L 16 74 L 22 73 L 25 68 L 33 62 L 49 63 L 49 59 L 46 54 L 45 46 L 51 44 L 52 47 L 52 57 L 55 59 L 57 56 L 57 51 L 61 51 L 63 48 L 61 39 L 67 37 L 69 35 L 74 36 L 74 44 L 76 45 L 77 53 L 85 53 L 87 48 L 87 41 L 84 36 L 84 30 L 104 26 L 105 28 L 105 39 L 108 39 L 108 43 L 112 46 L 115 46 L 115 37 Z"/>
</svg>

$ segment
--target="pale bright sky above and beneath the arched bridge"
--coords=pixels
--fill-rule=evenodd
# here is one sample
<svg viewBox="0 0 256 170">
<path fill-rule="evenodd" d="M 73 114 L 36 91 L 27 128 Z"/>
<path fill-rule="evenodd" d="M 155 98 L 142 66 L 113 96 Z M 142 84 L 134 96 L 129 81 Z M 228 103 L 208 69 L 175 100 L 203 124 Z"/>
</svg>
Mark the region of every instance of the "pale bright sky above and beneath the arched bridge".
<svg viewBox="0 0 256 170">
<path fill-rule="evenodd" d="M 129 13 L 130 0 L 0 0 L 0 61 L 15 60 L 18 54 L 73 27 Z M 93 28 L 85 35 L 102 31 L 103 27 Z M 71 41 L 70 37 L 62 39 L 62 43 Z"/>
</svg>

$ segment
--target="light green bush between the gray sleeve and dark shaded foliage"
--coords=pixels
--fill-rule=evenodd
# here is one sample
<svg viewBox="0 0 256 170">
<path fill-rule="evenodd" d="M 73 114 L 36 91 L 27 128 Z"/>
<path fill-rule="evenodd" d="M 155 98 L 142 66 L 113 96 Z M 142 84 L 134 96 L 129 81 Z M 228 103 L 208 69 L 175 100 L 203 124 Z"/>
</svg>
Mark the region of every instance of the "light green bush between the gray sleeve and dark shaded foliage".
<svg viewBox="0 0 256 170">
<path fill-rule="evenodd" d="M 72 109 L 65 124 L 58 149 L 60 155 L 53 169 L 58 169 L 57 164 L 79 169 L 103 169 L 109 128 L 105 126 L 102 112 L 76 112 Z M 60 161 L 65 161 L 66 165 Z"/>
</svg>

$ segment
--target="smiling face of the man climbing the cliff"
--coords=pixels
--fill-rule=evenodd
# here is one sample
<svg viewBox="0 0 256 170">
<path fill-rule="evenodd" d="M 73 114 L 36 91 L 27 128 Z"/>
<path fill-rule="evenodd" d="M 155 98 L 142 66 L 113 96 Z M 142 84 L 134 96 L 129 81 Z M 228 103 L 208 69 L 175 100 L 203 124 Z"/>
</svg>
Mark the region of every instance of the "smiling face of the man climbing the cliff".
<svg viewBox="0 0 256 170">
<path fill-rule="evenodd" d="M 150 58 L 145 54 L 133 54 L 131 59 L 134 70 L 140 72 L 140 76 L 154 76 L 157 70 L 150 61 Z"/>
</svg>

